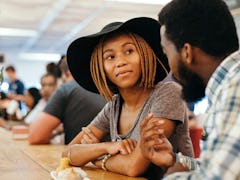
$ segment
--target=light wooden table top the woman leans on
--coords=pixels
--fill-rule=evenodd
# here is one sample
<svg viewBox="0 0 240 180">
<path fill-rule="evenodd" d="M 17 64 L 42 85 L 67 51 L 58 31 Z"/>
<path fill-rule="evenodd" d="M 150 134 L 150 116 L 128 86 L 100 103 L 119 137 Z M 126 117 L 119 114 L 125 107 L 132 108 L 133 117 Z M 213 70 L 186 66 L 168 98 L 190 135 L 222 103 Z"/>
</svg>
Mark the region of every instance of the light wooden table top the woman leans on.
<svg viewBox="0 0 240 180">
<path fill-rule="evenodd" d="M 29 145 L 26 140 L 13 140 L 10 131 L 0 128 L 0 179 L 51 179 L 50 172 L 60 163 L 64 145 Z M 92 180 L 143 180 L 98 168 L 82 168 Z"/>
</svg>

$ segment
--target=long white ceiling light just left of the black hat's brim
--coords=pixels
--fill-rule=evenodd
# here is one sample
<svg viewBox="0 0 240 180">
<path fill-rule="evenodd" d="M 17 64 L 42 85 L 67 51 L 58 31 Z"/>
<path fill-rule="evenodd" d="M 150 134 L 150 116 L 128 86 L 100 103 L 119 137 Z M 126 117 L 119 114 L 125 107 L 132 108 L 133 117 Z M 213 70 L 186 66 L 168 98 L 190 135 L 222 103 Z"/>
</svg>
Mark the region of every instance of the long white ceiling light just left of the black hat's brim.
<svg viewBox="0 0 240 180">
<path fill-rule="evenodd" d="M 53 53 L 21 53 L 19 57 L 27 61 L 54 61 L 57 62 L 61 58 L 61 54 Z"/>
</svg>

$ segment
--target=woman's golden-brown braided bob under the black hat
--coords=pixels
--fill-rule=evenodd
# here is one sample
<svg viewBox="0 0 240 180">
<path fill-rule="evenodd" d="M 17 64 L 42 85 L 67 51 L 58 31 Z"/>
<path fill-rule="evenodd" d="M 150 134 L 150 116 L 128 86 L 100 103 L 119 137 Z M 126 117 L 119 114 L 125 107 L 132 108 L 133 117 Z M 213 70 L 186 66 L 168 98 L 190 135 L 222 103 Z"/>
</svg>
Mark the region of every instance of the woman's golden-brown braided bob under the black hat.
<svg viewBox="0 0 240 180">
<path fill-rule="evenodd" d="M 100 40 L 99 44 L 92 53 L 90 61 L 90 70 L 93 81 L 100 94 L 107 100 L 112 100 L 113 94 L 117 93 L 118 89 L 109 81 L 105 74 L 103 67 L 103 45 L 104 41 L 106 41 L 108 38 L 120 34 L 128 34 L 132 38 L 137 52 L 139 53 L 142 72 L 138 82 L 139 87 L 150 88 L 154 86 L 158 58 L 152 48 L 143 38 L 136 34 L 127 32 L 113 33 Z"/>
</svg>

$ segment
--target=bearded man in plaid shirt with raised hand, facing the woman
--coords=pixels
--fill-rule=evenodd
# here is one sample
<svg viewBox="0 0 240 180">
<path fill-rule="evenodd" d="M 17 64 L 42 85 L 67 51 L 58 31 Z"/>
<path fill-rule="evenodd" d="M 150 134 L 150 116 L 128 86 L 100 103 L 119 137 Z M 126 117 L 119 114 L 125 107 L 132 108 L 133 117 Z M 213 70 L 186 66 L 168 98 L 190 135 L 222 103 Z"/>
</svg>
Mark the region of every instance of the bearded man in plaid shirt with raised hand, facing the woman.
<svg viewBox="0 0 240 180">
<path fill-rule="evenodd" d="M 166 179 L 240 178 L 240 51 L 233 17 L 222 0 L 173 0 L 159 13 L 161 45 L 183 98 L 206 95 L 208 133 L 199 163 L 174 154 L 160 122 L 141 124 L 141 150 Z"/>
</svg>

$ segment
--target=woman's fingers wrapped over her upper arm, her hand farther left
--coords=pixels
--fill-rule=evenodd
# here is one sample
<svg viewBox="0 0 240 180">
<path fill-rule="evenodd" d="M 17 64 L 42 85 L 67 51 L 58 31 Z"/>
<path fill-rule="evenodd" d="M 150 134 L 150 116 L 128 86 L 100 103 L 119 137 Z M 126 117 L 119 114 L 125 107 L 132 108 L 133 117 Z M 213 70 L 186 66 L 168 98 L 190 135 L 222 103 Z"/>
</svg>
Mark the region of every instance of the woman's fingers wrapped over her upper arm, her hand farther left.
<svg viewBox="0 0 240 180">
<path fill-rule="evenodd" d="M 82 128 L 82 139 L 81 144 L 94 144 L 99 143 L 100 140 L 95 136 L 95 134 L 88 127 Z"/>
</svg>

